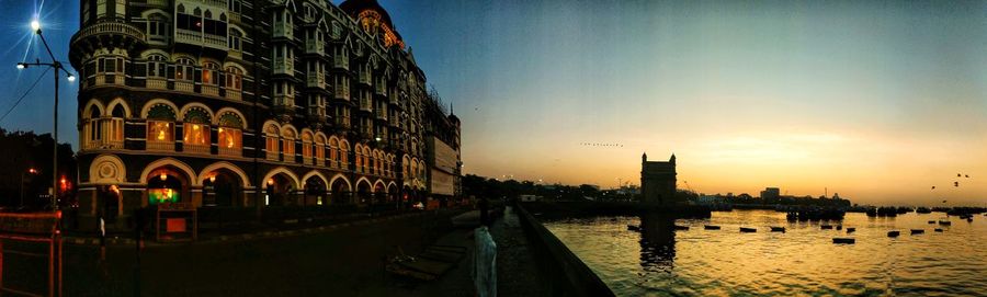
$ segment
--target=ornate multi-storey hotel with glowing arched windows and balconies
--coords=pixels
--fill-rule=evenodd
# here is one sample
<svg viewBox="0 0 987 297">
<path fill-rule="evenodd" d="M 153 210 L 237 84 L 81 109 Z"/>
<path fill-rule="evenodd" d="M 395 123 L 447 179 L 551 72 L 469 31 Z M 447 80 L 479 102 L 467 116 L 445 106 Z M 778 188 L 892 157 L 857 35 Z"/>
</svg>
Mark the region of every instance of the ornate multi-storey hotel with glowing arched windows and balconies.
<svg viewBox="0 0 987 297">
<path fill-rule="evenodd" d="M 375 0 L 82 0 L 70 46 L 80 228 L 458 195 L 460 119 Z"/>
</svg>

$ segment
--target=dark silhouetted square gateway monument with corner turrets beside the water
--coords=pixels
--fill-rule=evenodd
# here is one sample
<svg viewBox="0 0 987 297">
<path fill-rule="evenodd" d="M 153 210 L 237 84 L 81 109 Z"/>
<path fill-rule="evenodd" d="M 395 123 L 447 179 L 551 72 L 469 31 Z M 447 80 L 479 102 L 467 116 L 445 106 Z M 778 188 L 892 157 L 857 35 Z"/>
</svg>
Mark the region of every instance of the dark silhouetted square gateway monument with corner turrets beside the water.
<svg viewBox="0 0 987 297">
<path fill-rule="evenodd" d="M 669 204 L 676 197 L 676 155 L 668 162 L 648 161 L 640 156 L 640 195 L 644 203 Z"/>
</svg>

